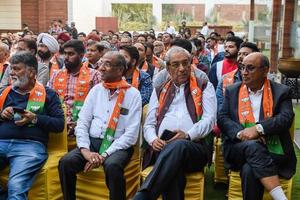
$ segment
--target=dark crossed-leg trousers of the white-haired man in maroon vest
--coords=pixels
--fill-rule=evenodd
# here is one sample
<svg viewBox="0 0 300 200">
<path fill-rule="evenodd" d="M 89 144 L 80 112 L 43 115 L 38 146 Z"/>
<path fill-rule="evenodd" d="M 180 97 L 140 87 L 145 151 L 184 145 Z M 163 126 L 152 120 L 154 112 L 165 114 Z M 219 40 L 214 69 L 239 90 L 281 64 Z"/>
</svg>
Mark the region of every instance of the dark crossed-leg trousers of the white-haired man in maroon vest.
<svg viewBox="0 0 300 200">
<path fill-rule="evenodd" d="M 201 171 L 208 162 L 207 147 L 188 140 L 175 140 L 160 152 L 151 173 L 133 200 L 184 199 L 185 174 Z"/>
</svg>

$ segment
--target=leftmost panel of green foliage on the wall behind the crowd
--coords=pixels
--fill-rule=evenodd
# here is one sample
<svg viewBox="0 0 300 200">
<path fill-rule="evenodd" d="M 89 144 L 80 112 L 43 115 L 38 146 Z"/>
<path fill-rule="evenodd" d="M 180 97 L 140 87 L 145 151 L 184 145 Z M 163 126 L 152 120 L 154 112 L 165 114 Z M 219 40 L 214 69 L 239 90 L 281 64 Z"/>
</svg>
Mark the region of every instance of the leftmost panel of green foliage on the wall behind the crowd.
<svg viewBox="0 0 300 200">
<path fill-rule="evenodd" d="M 112 4 L 112 15 L 118 17 L 120 31 L 149 30 L 156 24 L 151 4 Z"/>
</svg>

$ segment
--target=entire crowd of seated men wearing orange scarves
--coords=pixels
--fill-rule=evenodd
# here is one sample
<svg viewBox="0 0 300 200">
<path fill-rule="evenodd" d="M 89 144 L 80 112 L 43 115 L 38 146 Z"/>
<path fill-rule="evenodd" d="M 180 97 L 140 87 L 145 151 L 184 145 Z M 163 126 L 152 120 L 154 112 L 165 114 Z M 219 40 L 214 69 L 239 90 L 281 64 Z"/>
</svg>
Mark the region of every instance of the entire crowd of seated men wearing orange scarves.
<svg viewBox="0 0 300 200">
<path fill-rule="evenodd" d="M 206 24 L 207 25 L 207 24 Z M 206 30 L 207 32 L 207 30 Z M 48 33 L 5 34 L 0 42 L 0 168 L 9 165 L 8 199 L 26 199 L 47 160 L 49 132 L 67 124 L 77 147 L 60 159 L 64 199 L 76 199 L 76 174 L 103 166 L 110 199 L 126 199 L 124 168 L 139 137 L 142 167 L 153 170 L 134 200 L 184 199 L 187 173 L 212 160 L 222 137 L 225 166 L 240 171 L 243 198 L 287 199 L 296 157 L 289 88 L 267 79 L 257 46 L 228 32 L 225 41 L 182 24 L 178 34 L 89 34 L 53 22 Z M 62 104 L 66 106 L 66 117 Z"/>
</svg>

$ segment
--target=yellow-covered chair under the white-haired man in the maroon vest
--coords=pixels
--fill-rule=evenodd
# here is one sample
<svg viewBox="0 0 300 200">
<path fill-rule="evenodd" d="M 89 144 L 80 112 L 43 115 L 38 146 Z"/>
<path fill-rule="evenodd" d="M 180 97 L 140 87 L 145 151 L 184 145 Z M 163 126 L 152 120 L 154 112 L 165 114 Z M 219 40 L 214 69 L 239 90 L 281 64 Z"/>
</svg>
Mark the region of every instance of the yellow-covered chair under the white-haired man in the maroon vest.
<svg viewBox="0 0 300 200">
<path fill-rule="evenodd" d="M 149 166 L 141 172 L 141 178 L 144 181 L 153 169 Z M 161 198 L 159 198 L 161 199 Z M 184 199 L 203 200 L 204 199 L 204 174 L 203 172 L 194 172 L 186 175 L 186 187 L 184 190 Z"/>
</svg>

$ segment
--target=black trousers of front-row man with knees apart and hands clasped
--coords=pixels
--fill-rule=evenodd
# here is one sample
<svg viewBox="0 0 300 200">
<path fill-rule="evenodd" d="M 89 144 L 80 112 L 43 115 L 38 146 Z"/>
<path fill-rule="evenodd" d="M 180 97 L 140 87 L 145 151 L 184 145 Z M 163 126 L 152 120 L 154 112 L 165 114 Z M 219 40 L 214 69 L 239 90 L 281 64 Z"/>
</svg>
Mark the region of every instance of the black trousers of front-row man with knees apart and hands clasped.
<svg viewBox="0 0 300 200">
<path fill-rule="evenodd" d="M 98 152 L 102 140 L 90 138 L 90 141 L 90 150 Z M 103 163 L 105 181 L 109 189 L 109 197 L 111 200 L 126 199 L 124 168 L 130 161 L 132 154 L 133 147 L 116 151 L 107 157 Z M 76 174 L 83 171 L 86 163 L 87 160 L 85 160 L 78 148 L 72 150 L 60 159 L 58 169 L 65 200 L 76 200 Z"/>
</svg>

